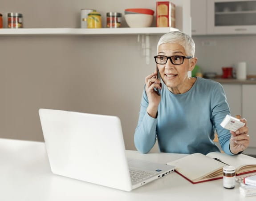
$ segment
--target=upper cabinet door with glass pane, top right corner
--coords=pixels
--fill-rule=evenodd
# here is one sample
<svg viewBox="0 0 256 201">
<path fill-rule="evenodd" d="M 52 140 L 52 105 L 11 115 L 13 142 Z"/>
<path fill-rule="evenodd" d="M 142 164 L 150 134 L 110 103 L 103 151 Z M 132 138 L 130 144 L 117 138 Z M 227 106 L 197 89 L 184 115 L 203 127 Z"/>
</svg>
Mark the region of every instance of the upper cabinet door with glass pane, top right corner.
<svg viewBox="0 0 256 201">
<path fill-rule="evenodd" d="M 207 0 L 207 33 L 256 33 L 256 0 Z"/>
</svg>

